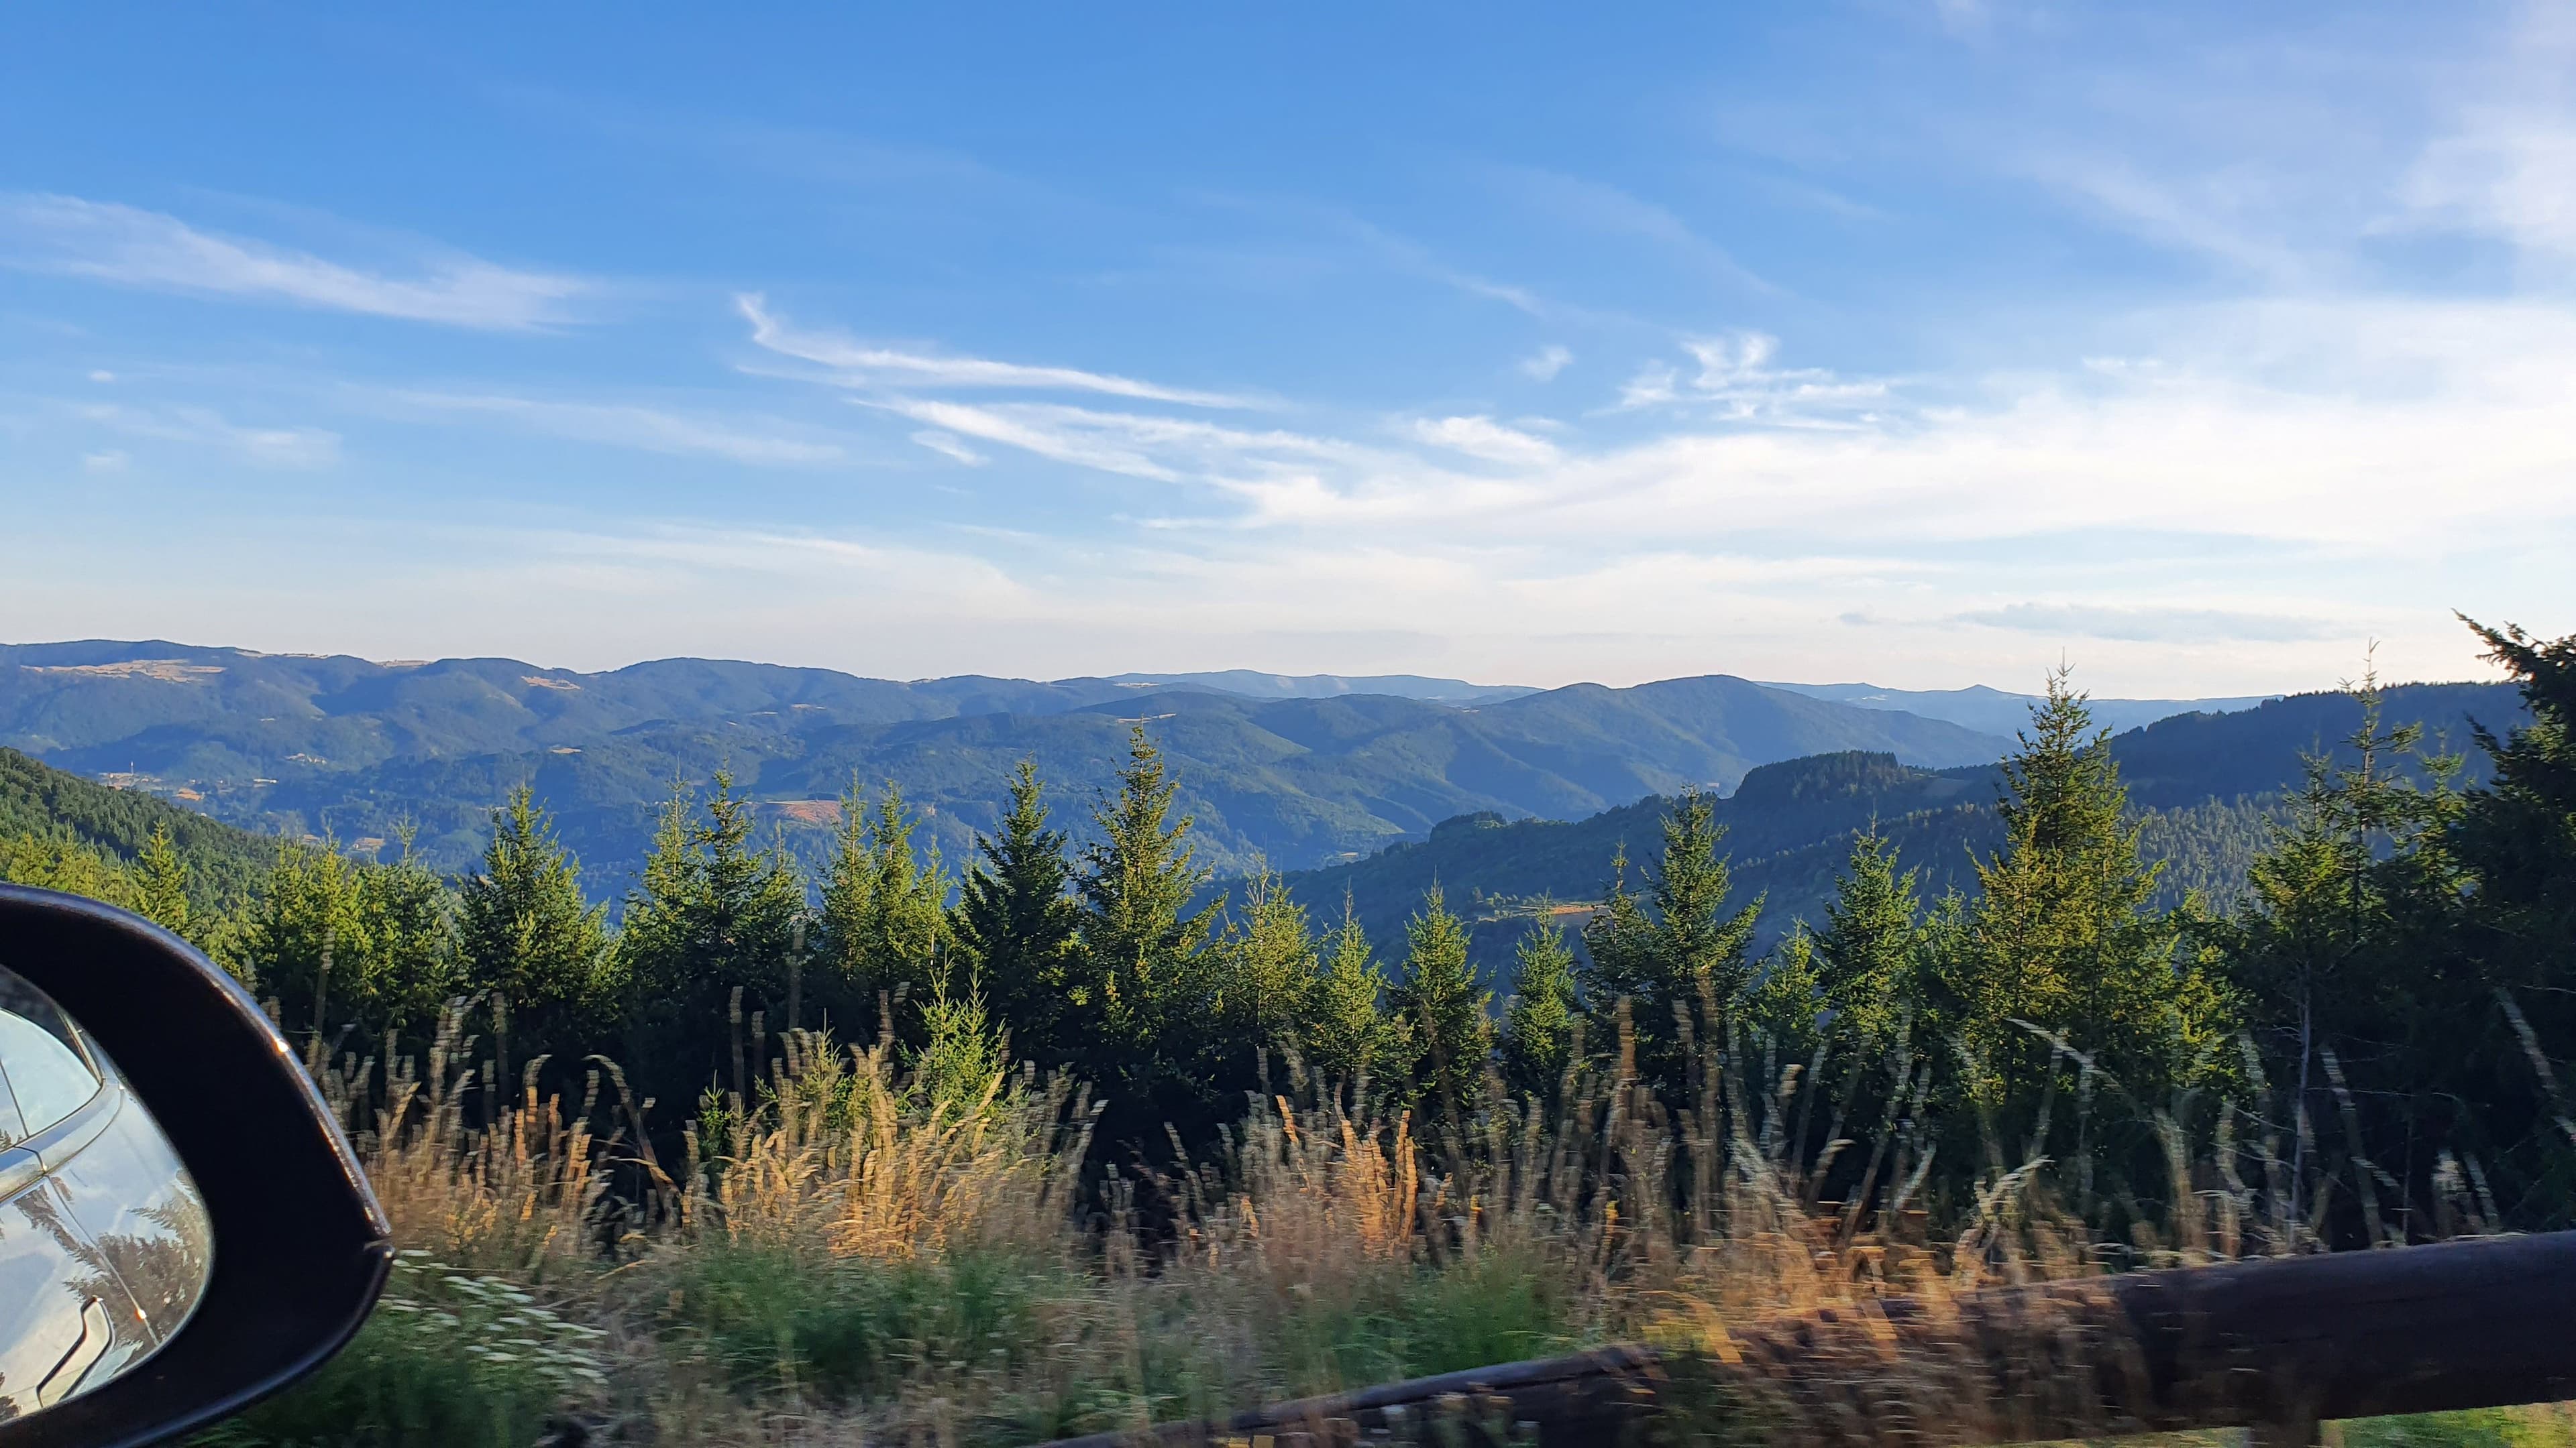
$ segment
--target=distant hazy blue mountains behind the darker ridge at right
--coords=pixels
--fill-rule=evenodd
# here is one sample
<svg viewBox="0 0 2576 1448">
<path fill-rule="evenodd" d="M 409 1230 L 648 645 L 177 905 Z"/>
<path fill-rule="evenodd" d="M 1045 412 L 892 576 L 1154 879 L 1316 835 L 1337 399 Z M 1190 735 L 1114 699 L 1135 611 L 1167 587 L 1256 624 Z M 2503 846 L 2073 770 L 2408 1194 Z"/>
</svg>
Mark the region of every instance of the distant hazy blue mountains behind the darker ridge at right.
<svg viewBox="0 0 2576 1448">
<path fill-rule="evenodd" d="M 1880 750 L 1984 763 L 2004 739 L 1708 675 L 1636 688 L 1481 691 L 1381 675 L 868 680 L 729 660 L 574 672 L 518 660 L 371 662 L 170 642 L 0 647 L 0 745 L 155 791 L 219 819 L 384 848 L 402 827 L 443 868 L 474 858 L 487 812 L 533 783 L 618 891 L 672 778 L 719 765 L 783 804 L 819 848 L 853 778 L 896 781 L 951 861 L 1036 757 L 1061 824 L 1146 721 L 1198 817 L 1203 861 L 1242 871 L 1355 858 L 1453 814 L 1587 817 L 1646 794 L 1734 788 L 1754 765 Z M 1358 685 L 1468 691 L 1458 703 Z M 1481 691 L 1481 693 L 1479 693 Z"/>
</svg>

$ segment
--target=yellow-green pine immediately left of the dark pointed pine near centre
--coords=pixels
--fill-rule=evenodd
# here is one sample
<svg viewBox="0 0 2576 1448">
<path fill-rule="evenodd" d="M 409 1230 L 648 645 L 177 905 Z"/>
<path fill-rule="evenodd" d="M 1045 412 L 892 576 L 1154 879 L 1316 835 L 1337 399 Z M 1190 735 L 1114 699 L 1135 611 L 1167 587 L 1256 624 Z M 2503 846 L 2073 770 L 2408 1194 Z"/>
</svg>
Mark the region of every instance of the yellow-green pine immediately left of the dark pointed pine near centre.
<svg viewBox="0 0 2576 1448">
<path fill-rule="evenodd" d="M 840 804 L 832 873 L 822 889 L 822 1002 L 873 1020 L 881 1000 L 927 1000 L 948 969 L 948 879 L 938 850 L 912 853 L 912 812 L 886 783 L 871 812 L 853 783 Z M 855 1020 L 850 1023 L 855 1025 Z"/>
</svg>

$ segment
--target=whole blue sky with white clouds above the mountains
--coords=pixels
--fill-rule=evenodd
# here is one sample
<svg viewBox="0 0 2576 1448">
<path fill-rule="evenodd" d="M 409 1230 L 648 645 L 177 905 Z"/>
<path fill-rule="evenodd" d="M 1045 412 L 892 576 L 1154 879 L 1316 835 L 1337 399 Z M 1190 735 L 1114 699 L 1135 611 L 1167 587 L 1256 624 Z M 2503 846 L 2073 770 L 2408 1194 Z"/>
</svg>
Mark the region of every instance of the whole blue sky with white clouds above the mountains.
<svg viewBox="0 0 2576 1448">
<path fill-rule="evenodd" d="M 2576 629 L 2566 5 L 18 5 L 0 636 L 2316 688 Z"/>
</svg>

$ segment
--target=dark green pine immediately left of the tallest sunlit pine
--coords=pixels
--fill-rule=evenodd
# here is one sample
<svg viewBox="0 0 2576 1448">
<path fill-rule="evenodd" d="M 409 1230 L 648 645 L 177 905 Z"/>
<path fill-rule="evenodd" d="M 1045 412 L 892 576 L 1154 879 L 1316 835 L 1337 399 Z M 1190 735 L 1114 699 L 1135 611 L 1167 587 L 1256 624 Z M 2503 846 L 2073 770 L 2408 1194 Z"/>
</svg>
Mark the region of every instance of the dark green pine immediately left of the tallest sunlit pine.
<svg viewBox="0 0 2576 1448">
<path fill-rule="evenodd" d="M 1020 1056 L 1064 1064 L 1074 1041 L 1090 1036 L 1100 1002 L 1074 979 L 1082 910 L 1069 894 L 1064 832 L 1046 827 L 1036 763 L 1020 760 L 1002 832 L 976 840 L 976 850 L 981 858 L 958 889 L 951 933 Z"/>
</svg>

